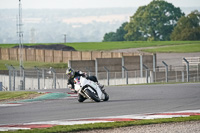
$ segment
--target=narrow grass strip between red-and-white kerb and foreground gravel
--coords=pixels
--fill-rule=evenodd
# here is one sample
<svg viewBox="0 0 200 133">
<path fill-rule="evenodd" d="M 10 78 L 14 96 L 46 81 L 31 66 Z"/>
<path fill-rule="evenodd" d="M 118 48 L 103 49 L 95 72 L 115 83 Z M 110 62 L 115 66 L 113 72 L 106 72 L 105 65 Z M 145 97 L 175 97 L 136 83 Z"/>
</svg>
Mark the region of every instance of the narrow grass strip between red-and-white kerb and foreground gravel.
<svg viewBox="0 0 200 133">
<path fill-rule="evenodd" d="M 8 131 L 7 133 L 13 133 L 13 132 L 14 133 L 37 133 L 37 132 L 39 133 L 66 133 L 66 132 L 75 132 L 75 131 L 89 131 L 89 130 L 94 130 L 94 129 L 113 129 L 113 128 L 137 126 L 137 125 L 199 121 L 199 120 L 200 120 L 200 116 L 190 116 L 190 117 L 177 117 L 177 118 L 154 119 L 154 120 L 137 120 L 137 121 L 124 121 L 124 122 L 55 126 L 55 127 L 46 128 L 46 129 Z"/>
</svg>

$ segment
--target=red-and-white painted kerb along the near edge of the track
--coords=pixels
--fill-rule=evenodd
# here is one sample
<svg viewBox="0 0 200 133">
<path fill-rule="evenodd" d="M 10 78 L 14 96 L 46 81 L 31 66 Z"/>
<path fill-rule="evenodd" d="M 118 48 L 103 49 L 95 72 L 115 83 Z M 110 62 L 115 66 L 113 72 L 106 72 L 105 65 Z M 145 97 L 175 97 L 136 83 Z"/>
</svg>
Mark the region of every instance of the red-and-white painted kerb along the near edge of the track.
<svg viewBox="0 0 200 133">
<path fill-rule="evenodd" d="M 76 124 L 115 122 L 115 121 L 135 121 L 135 120 L 142 120 L 142 119 L 188 117 L 188 116 L 192 116 L 192 115 L 200 115 L 200 110 L 186 110 L 186 111 L 177 111 L 177 112 L 164 112 L 164 113 L 151 113 L 151 114 L 135 114 L 135 115 L 123 115 L 123 116 L 83 118 L 83 119 L 72 119 L 72 120 L 31 122 L 31 123 L 16 124 L 16 125 L 0 125 L 0 131 L 48 128 L 48 127 L 54 127 L 56 125 L 76 125 Z"/>
</svg>

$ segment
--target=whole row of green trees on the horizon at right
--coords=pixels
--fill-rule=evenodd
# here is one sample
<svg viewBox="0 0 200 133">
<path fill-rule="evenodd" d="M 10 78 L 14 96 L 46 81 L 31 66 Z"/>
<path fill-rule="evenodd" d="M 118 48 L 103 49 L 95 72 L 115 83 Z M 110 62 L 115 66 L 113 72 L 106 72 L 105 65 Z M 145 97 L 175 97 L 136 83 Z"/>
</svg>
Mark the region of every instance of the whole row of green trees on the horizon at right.
<svg viewBox="0 0 200 133">
<path fill-rule="evenodd" d="M 179 7 L 164 0 L 141 6 L 116 32 L 104 35 L 103 41 L 200 40 L 200 12 L 187 16 Z"/>
</svg>

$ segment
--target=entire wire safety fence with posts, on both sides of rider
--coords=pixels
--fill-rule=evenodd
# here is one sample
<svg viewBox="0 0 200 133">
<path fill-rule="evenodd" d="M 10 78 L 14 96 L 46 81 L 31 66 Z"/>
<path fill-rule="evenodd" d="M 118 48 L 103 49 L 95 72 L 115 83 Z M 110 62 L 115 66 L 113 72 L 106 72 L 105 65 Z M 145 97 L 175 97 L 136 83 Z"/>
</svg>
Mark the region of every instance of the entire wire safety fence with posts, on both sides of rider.
<svg viewBox="0 0 200 133">
<path fill-rule="evenodd" d="M 0 91 L 40 90 L 67 88 L 67 75 L 65 71 L 50 69 L 24 69 L 7 66 L 8 74 L 0 75 Z M 149 70 L 129 71 L 122 67 L 120 72 L 110 72 L 103 67 L 105 72 L 86 71 L 88 75 L 96 75 L 99 82 L 104 85 L 123 85 L 141 83 L 165 82 L 199 82 L 200 64 L 187 66 L 156 67 Z"/>
</svg>

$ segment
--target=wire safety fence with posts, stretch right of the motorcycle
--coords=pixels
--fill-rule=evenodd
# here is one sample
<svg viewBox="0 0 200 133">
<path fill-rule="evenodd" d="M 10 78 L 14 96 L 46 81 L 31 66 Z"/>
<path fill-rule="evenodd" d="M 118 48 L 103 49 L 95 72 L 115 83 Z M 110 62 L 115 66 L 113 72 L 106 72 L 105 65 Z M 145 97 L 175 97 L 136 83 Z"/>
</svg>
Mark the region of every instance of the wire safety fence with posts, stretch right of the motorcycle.
<svg viewBox="0 0 200 133">
<path fill-rule="evenodd" d="M 106 85 L 167 83 L 167 82 L 199 82 L 200 64 L 186 66 L 157 67 L 155 70 L 136 70 L 125 72 L 101 72 L 98 79 Z"/>
</svg>

